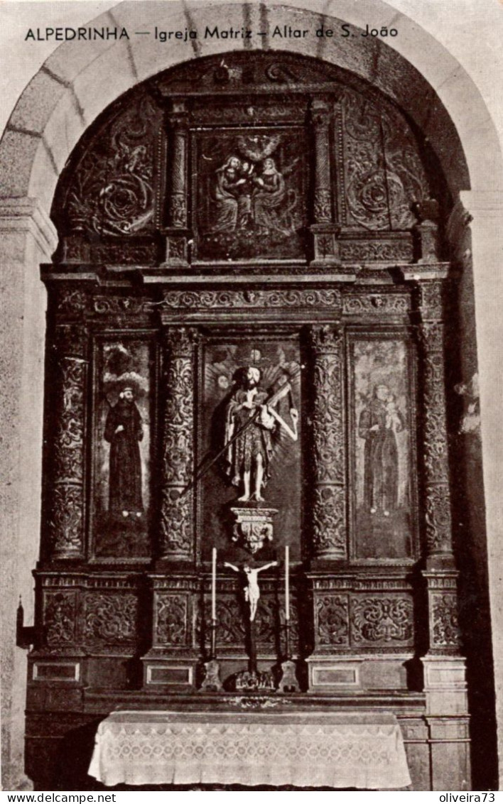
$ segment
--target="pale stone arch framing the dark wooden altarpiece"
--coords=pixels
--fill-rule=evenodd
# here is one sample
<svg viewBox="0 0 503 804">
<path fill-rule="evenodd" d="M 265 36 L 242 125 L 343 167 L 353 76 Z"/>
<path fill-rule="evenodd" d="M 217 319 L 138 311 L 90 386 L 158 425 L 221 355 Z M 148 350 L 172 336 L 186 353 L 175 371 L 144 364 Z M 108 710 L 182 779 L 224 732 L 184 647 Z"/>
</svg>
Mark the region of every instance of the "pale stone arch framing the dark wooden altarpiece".
<svg viewBox="0 0 503 804">
<path fill-rule="evenodd" d="M 121 3 L 94 19 L 89 26 L 125 26 L 133 30 L 138 19 L 135 5 Z M 461 200 L 472 213 L 477 215 L 479 212 L 480 218 L 476 217 L 472 226 L 471 248 L 475 260 L 477 334 L 482 378 L 480 390 L 485 417 L 484 450 L 487 450 L 487 455 L 484 454 L 484 460 L 487 458 L 487 524 L 488 530 L 493 532 L 489 552 L 493 552 L 493 557 L 497 558 L 496 548 L 492 545 L 497 544 L 501 519 L 498 523 L 498 478 L 493 467 L 498 448 L 494 433 L 497 433 L 500 414 L 499 400 L 492 399 L 487 379 L 491 355 L 494 354 L 492 350 L 498 337 L 497 326 L 494 325 L 499 312 L 498 294 L 493 280 L 497 260 L 494 231 L 501 187 L 501 150 L 497 133 L 475 84 L 464 68 L 435 39 L 409 18 L 397 14 L 396 10 L 378 0 L 376 11 L 378 6 L 381 23 L 399 26 L 405 35 L 403 39 L 393 42 L 394 47 L 377 40 L 369 46 L 365 43 L 364 47 L 357 27 L 365 27 L 365 12 L 358 9 L 358 4 L 353 5 L 355 7 L 348 10 L 344 19 L 332 17 L 331 2 L 315 2 L 310 10 L 303 9 L 300 3 L 295 2 L 289 6 L 229 2 L 219 6 L 219 12 L 221 18 L 228 21 L 229 27 L 265 29 L 268 36 L 263 41 L 259 39 L 258 44 L 270 49 L 285 47 L 284 40 L 273 37 L 277 24 L 304 28 L 317 28 L 324 24 L 325 27 L 330 25 L 336 28 L 348 22 L 356 26 L 354 31 L 357 35 L 352 39 L 351 47 L 334 47 L 326 39 L 312 37 L 308 42 L 290 40 L 288 50 L 313 55 L 356 72 L 395 100 L 430 138 L 452 194 L 456 197 L 461 193 Z M 172 4 L 169 14 L 166 13 L 165 3 L 152 2 L 142 8 L 145 9 L 145 14 L 142 14 L 144 26 L 153 26 L 161 15 L 163 25 L 173 30 L 183 31 L 185 27 L 204 29 L 207 24 L 214 25 L 214 7 L 211 9 L 205 4 L 192 7 L 189 12 L 176 2 Z M 234 44 L 247 48 L 250 43 L 241 39 Z M 251 43 L 252 49 L 254 46 L 255 43 Z M 36 424 L 35 427 L 30 425 L 23 428 L 23 422 L 26 425 L 30 419 L 29 400 L 33 396 L 30 389 L 35 388 L 37 404 L 42 398 L 43 289 L 38 281 L 38 265 L 40 261 L 50 258 L 56 246 L 54 228 L 48 217 L 52 195 L 73 146 L 97 115 L 139 81 L 187 59 L 189 55 L 189 45 L 186 48 L 165 47 L 160 52 L 159 47 L 154 50 L 151 40 L 142 37 L 111 45 L 105 43 L 105 46 L 98 41 L 86 43 L 85 49 L 75 56 L 71 43 L 61 45 L 20 96 L 0 143 L 2 236 L 10 281 L 18 297 L 16 305 L 10 307 L 10 314 L 17 321 L 12 335 L 19 331 L 23 343 L 22 350 L 14 352 L 13 362 L 6 371 L 7 377 L 11 373 L 13 377 L 21 378 L 19 387 L 16 385 L 14 392 L 11 392 L 8 408 L 10 415 L 17 416 L 22 424 L 9 445 L 13 456 L 14 490 L 9 493 L 4 511 L 7 513 L 6 527 L 13 534 L 10 540 L 14 539 L 17 545 L 15 549 L 19 556 L 28 553 L 19 568 L 13 565 L 8 571 L 10 597 L 5 607 L 9 613 L 15 605 L 17 591 L 30 587 L 29 572 L 38 544 L 37 484 L 40 480 L 35 470 L 35 477 L 31 478 L 35 482 L 33 494 L 32 490 L 27 490 L 26 482 L 23 484 L 19 468 L 14 464 L 18 450 L 21 450 L 23 460 L 33 457 L 35 464 L 39 464 L 39 429 Z M 190 47 L 190 58 L 197 59 L 201 55 L 227 51 L 229 40 L 212 38 L 190 43 Z M 488 280 L 491 280 L 491 284 Z M 489 295 L 484 291 L 484 286 L 491 287 Z M 20 329 L 19 320 L 24 314 L 27 314 L 27 325 Z M 28 444 L 30 440 L 33 441 L 31 445 Z M 23 501 L 28 501 L 28 504 L 24 505 Z M 10 524 L 7 521 L 9 517 Z M 27 533 L 31 535 L 27 536 Z M 19 580 L 22 574 L 24 579 Z M 494 569 L 494 576 L 497 576 L 497 568 Z M 493 605 L 493 617 L 496 617 L 496 597 Z M 23 684 L 14 679 L 18 669 L 19 677 L 23 678 L 24 665 L 19 656 L 10 658 L 7 663 L 10 676 L 7 683 L 14 704 L 3 722 L 6 728 L 11 728 L 16 705 L 19 707 L 19 701 L 23 702 L 24 696 Z M 18 704 L 15 704 L 16 700 Z M 23 706 L 22 703 L 20 705 Z M 10 747 L 6 749 L 10 754 L 8 764 L 12 764 L 17 757 L 19 773 L 22 767 L 20 740 L 22 733 L 14 729 Z M 6 788 L 13 789 L 14 785 L 6 785 Z"/>
</svg>

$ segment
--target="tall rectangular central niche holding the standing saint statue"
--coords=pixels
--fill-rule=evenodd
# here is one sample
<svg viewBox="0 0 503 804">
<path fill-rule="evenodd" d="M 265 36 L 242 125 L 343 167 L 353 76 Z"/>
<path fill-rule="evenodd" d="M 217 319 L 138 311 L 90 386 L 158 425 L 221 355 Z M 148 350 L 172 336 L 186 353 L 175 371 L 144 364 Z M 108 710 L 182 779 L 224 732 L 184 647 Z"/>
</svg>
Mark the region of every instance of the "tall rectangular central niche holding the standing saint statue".
<svg viewBox="0 0 503 804">
<path fill-rule="evenodd" d="M 303 405 L 299 340 L 222 338 L 204 345 L 202 363 L 198 464 L 203 470 L 205 459 L 216 456 L 229 438 L 236 437 L 248 415 L 256 415 L 259 405 L 272 396 L 281 397 L 274 405 L 274 420 L 268 418 L 264 427 L 254 423 L 245 427 L 200 480 L 199 530 L 208 535 L 203 540 L 203 559 L 210 558 L 212 544 L 229 556 L 241 552 L 245 526 L 239 520 L 269 516 L 272 538 L 254 551 L 258 560 L 285 544 L 291 545 L 292 560 L 300 560 Z M 254 408 L 248 411 L 246 388 L 254 384 Z M 289 390 L 283 394 L 287 384 Z M 262 500 L 255 494 L 258 461 L 262 464 Z M 243 474 L 247 470 L 249 499 L 244 500 Z"/>
</svg>

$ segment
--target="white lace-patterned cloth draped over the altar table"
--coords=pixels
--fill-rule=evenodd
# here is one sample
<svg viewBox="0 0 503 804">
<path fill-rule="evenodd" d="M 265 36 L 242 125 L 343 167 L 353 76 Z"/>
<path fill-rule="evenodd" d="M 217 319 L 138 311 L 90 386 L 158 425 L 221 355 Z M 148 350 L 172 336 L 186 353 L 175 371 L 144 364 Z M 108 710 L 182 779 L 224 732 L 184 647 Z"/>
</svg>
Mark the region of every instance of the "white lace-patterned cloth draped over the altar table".
<svg viewBox="0 0 503 804">
<path fill-rule="evenodd" d="M 109 787 L 410 785 L 393 715 L 325 712 L 113 712 L 89 775 Z"/>
</svg>

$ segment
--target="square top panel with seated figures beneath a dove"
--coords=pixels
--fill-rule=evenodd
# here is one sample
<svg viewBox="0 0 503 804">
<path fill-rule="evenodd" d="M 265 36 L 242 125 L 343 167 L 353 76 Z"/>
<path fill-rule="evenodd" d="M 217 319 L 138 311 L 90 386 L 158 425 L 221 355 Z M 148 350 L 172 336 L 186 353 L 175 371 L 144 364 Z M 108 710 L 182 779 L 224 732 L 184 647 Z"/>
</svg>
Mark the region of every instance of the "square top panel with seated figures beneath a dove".
<svg viewBox="0 0 503 804">
<path fill-rule="evenodd" d="M 305 176 L 298 154 L 291 133 L 201 138 L 199 256 L 303 253 Z"/>
</svg>

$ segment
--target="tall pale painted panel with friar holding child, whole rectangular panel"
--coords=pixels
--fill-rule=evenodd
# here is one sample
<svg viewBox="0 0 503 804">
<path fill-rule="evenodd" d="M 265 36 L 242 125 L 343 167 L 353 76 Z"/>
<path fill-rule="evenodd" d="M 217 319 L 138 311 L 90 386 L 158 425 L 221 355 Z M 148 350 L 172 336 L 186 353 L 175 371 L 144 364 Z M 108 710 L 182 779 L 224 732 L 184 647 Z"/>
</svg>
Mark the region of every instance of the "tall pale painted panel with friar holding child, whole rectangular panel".
<svg viewBox="0 0 503 804">
<path fill-rule="evenodd" d="M 353 347 L 357 558 L 411 556 L 409 367 L 402 341 Z"/>
</svg>

